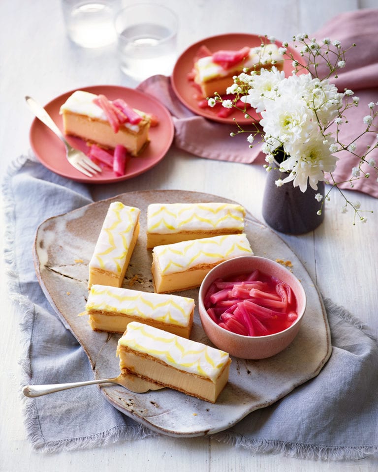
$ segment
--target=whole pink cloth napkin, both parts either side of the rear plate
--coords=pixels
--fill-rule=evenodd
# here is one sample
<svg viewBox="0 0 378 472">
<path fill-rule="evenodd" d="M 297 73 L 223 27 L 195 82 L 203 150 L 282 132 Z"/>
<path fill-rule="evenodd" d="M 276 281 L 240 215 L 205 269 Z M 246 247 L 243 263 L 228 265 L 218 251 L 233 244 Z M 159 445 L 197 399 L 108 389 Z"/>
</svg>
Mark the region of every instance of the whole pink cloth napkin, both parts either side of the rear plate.
<svg viewBox="0 0 378 472">
<path fill-rule="evenodd" d="M 342 13 L 329 21 L 322 29 L 311 37 L 318 41 L 329 37 L 340 40 L 344 48 L 356 43 L 357 47 L 347 53 L 347 66 L 341 69 L 335 83 L 340 91 L 351 89 L 360 98 L 360 105 L 347 111 L 349 123 L 342 127 L 340 140 L 349 144 L 359 132 L 365 129 L 362 118 L 369 114 L 367 104 L 378 103 L 378 9 L 363 9 Z M 285 38 L 283 38 L 284 40 Z M 188 151 L 199 157 L 223 161 L 241 162 L 245 164 L 264 162 L 261 145 L 248 146 L 246 135 L 230 137 L 236 131 L 234 124 L 221 124 L 193 114 L 176 97 L 169 77 L 156 75 L 142 82 L 137 89 L 158 98 L 170 111 L 175 125 L 175 141 L 177 148 Z M 375 146 L 377 132 L 369 133 L 359 140 L 356 153 L 362 155 L 366 146 Z M 351 177 L 352 167 L 357 167 L 359 158 L 343 151 L 337 154 L 339 162 L 334 172 L 336 181 L 344 181 Z M 371 154 L 378 164 L 378 149 Z M 371 177 L 362 178 L 354 183 L 354 190 L 368 193 L 378 198 L 376 171 L 365 166 L 364 172 Z M 350 183 L 339 185 L 350 189 Z"/>
</svg>

